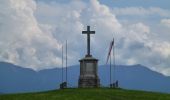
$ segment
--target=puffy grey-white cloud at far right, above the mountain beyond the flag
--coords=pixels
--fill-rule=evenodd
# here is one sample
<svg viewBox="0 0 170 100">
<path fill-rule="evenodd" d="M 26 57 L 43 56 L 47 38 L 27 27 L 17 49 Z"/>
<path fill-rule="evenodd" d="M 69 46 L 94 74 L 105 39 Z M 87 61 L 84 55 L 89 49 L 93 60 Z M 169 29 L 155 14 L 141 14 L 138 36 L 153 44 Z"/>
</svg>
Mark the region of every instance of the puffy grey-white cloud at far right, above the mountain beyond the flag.
<svg viewBox="0 0 170 100">
<path fill-rule="evenodd" d="M 170 67 L 170 42 L 153 38 L 154 33 L 149 26 L 141 22 L 123 27 L 122 34 L 125 35 L 118 39 L 116 45 L 117 63 L 130 65 L 140 63 L 169 75 L 165 70 Z"/>
</svg>

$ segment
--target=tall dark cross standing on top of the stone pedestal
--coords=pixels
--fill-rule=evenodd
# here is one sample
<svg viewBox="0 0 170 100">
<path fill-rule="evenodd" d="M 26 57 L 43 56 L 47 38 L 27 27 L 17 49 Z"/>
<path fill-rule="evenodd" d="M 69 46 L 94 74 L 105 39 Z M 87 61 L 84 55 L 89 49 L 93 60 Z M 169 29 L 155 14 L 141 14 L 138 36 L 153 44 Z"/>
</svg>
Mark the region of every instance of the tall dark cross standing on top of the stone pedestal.
<svg viewBox="0 0 170 100">
<path fill-rule="evenodd" d="M 90 34 L 95 34 L 95 31 L 90 31 L 90 26 L 87 26 L 87 31 L 82 31 L 82 34 L 87 34 L 87 55 L 90 55 Z"/>
</svg>

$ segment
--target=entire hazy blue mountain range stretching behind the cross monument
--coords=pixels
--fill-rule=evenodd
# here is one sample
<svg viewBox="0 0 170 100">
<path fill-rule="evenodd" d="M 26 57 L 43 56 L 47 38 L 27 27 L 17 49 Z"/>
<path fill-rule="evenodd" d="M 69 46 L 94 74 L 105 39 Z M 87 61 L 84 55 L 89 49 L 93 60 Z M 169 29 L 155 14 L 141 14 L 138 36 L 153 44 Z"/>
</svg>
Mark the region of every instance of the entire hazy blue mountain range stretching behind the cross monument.
<svg viewBox="0 0 170 100">
<path fill-rule="evenodd" d="M 117 65 L 114 72 L 112 76 L 119 81 L 121 88 L 170 93 L 170 77 L 154 72 L 145 66 Z M 68 68 L 69 86 L 76 87 L 78 77 L 79 65 L 70 66 Z M 108 86 L 109 66 L 99 66 L 99 77 L 101 84 Z M 52 90 L 59 88 L 60 82 L 61 68 L 36 72 L 32 69 L 0 62 L 0 92 L 2 93 Z"/>
</svg>

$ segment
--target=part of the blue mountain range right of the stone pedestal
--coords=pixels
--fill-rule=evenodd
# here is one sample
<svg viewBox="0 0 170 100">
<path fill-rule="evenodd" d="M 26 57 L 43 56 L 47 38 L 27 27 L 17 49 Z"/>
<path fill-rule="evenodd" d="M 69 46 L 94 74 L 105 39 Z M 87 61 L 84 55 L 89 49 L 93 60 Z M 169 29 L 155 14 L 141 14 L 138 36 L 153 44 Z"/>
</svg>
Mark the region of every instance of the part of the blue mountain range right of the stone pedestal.
<svg viewBox="0 0 170 100">
<path fill-rule="evenodd" d="M 145 66 L 140 64 L 133 66 L 119 65 L 115 69 L 116 79 L 121 88 L 170 93 L 170 77 L 152 71 Z M 104 85 L 109 83 L 108 70 L 109 67 L 100 66 L 99 68 L 101 82 Z"/>
</svg>

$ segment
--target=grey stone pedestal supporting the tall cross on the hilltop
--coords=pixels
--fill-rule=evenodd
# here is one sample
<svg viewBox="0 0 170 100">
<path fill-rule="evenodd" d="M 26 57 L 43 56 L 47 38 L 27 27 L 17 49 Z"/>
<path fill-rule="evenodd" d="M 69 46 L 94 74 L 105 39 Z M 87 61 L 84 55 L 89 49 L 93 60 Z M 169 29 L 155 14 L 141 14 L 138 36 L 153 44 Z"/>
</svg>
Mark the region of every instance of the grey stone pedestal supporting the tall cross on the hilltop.
<svg viewBox="0 0 170 100">
<path fill-rule="evenodd" d="M 98 78 L 98 59 L 92 56 L 86 56 L 79 60 L 80 62 L 80 76 L 79 88 L 99 87 L 100 80 Z"/>
</svg>

